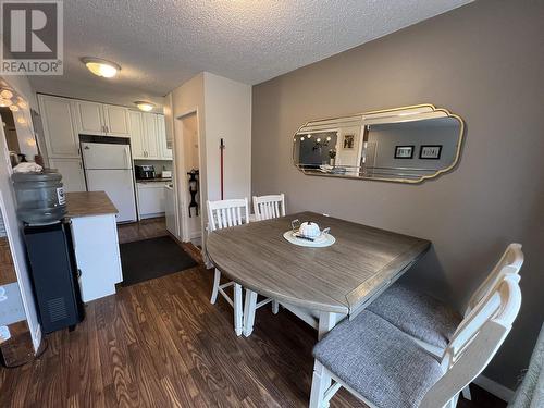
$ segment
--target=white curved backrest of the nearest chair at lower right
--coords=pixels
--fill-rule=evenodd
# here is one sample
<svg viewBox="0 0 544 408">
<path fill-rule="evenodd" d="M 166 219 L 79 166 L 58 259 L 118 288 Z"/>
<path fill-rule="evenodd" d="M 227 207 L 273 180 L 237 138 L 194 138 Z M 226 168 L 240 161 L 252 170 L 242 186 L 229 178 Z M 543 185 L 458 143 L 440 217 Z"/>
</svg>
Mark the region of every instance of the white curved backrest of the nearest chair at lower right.
<svg viewBox="0 0 544 408">
<path fill-rule="evenodd" d="M 520 307 L 519 275 L 502 272 L 500 281 L 459 324 L 444 351 L 445 373 L 425 394 L 420 407 L 446 406 L 480 375 L 510 332 Z"/>
</svg>

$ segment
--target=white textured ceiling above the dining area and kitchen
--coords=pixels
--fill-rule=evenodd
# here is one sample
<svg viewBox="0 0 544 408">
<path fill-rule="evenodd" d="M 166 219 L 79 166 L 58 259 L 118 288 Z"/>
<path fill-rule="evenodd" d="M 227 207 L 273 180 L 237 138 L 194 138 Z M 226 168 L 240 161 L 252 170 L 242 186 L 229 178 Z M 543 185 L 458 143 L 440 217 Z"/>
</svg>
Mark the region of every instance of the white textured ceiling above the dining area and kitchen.
<svg viewBox="0 0 544 408">
<path fill-rule="evenodd" d="M 258 84 L 471 0 L 70 0 L 64 75 L 37 91 L 131 103 L 156 99 L 201 71 Z M 113 79 L 82 57 L 119 63 Z"/>
</svg>

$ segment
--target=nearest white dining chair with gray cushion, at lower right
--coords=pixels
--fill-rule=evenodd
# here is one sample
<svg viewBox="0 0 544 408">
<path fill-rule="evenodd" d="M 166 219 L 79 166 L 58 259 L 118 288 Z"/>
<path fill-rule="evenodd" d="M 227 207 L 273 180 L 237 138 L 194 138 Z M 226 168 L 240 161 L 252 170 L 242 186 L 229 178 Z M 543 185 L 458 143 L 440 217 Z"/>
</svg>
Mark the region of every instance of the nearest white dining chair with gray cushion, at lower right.
<svg viewBox="0 0 544 408">
<path fill-rule="evenodd" d="M 316 345 L 310 408 L 327 407 L 341 387 L 369 407 L 454 408 L 503 344 L 520 306 L 519 275 L 503 275 L 468 312 L 441 358 L 363 310 Z"/>
</svg>

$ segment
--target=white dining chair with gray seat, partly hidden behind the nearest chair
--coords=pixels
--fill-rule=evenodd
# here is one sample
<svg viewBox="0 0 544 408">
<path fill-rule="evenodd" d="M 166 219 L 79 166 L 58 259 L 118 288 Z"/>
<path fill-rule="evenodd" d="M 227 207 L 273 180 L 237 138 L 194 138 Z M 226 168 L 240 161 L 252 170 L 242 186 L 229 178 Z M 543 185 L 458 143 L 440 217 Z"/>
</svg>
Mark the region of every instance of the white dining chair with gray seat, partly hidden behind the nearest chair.
<svg viewBox="0 0 544 408">
<path fill-rule="evenodd" d="M 465 316 L 505 274 L 519 274 L 522 264 L 521 245 L 508 245 L 492 272 L 472 294 Z M 420 346 L 436 357 L 442 357 L 462 320 L 448 305 L 399 283 L 381 294 L 369 305 L 368 310 L 412 336 Z M 470 388 L 463 390 L 462 394 L 467 399 L 471 399 Z"/>
</svg>

